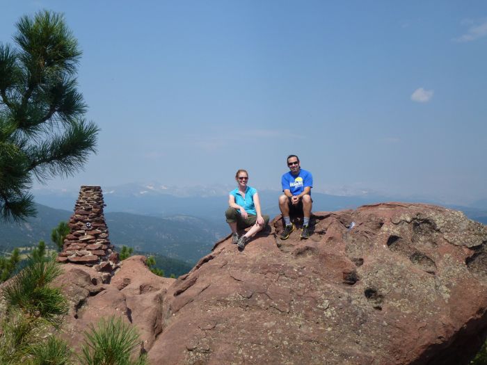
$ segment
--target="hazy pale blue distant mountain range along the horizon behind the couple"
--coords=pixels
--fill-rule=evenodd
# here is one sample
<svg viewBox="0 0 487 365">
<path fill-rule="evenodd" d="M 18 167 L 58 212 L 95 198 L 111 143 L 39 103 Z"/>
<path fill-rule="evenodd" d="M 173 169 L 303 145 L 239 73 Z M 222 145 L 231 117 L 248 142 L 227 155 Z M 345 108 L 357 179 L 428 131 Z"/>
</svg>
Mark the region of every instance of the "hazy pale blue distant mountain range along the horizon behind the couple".
<svg viewBox="0 0 487 365">
<path fill-rule="evenodd" d="M 234 186 L 213 185 L 189 188 L 165 186 L 163 184 L 125 184 L 103 187 L 106 212 L 125 212 L 144 216 L 171 217 L 194 216 L 213 222 L 220 229 L 218 234 L 227 232 L 223 212 L 227 208 L 227 195 Z M 71 211 L 77 200 L 77 190 L 33 191 L 36 202 L 57 209 Z M 271 218 L 279 213 L 278 190 L 259 190 L 262 212 Z M 446 206 L 465 212 L 474 220 L 487 223 L 487 199 L 478 200 L 470 206 L 445 204 L 424 197 L 404 197 L 362 192 L 358 195 L 330 195 L 312 192 L 313 211 L 339 211 L 355 209 L 365 204 L 377 202 L 422 202 Z"/>
</svg>

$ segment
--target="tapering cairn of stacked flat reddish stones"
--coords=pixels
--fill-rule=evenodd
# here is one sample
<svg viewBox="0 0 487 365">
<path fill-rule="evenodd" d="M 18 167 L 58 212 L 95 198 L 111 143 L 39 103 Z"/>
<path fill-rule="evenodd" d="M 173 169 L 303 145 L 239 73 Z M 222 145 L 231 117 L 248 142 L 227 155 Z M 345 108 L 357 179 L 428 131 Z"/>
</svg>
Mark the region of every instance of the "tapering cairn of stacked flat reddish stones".
<svg viewBox="0 0 487 365">
<path fill-rule="evenodd" d="M 118 253 L 109 241 L 109 229 L 103 214 L 102 188 L 81 186 L 68 223 L 70 234 L 64 240 L 57 261 L 93 266 L 97 271 L 112 273 L 119 267 Z"/>
</svg>

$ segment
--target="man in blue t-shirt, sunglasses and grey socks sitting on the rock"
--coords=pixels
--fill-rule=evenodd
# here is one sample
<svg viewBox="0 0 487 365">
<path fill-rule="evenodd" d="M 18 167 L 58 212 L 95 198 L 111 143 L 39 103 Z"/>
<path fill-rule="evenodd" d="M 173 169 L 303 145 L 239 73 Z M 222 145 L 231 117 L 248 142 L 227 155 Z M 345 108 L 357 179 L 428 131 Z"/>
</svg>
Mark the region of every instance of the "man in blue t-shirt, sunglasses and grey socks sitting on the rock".
<svg viewBox="0 0 487 365">
<path fill-rule="evenodd" d="M 311 188 L 313 187 L 313 177 L 311 172 L 303 170 L 299 164 L 298 156 L 290 154 L 287 156 L 287 166 L 289 172 L 282 175 L 281 184 L 283 195 L 279 197 L 279 209 L 282 219 L 285 222 L 285 229 L 280 235 L 280 239 L 286 240 L 289 234 L 294 231 L 294 224 L 289 218 L 289 212 L 303 212 L 303 231 L 301 238 L 309 238 L 310 216 L 312 209 Z"/>
</svg>

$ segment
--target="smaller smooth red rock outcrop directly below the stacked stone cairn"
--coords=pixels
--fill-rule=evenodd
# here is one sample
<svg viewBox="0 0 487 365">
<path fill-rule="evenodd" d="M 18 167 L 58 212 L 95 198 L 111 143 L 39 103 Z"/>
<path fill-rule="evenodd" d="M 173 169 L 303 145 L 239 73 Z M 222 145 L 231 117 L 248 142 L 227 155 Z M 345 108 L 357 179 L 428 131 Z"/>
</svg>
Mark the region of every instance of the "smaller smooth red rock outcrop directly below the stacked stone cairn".
<svg viewBox="0 0 487 365">
<path fill-rule="evenodd" d="M 104 284 L 103 273 L 95 268 L 67 263 L 56 279 L 69 299 L 70 310 L 63 322 L 63 338 L 79 350 L 83 331 L 101 318 L 117 316 L 137 327 L 143 348 L 151 348 L 161 332 L 162 300 L 175 279 L 159 277 L 145 266 L 145 257 L 134 256 L 122 261 L 120 269 Z"/>
</svg>

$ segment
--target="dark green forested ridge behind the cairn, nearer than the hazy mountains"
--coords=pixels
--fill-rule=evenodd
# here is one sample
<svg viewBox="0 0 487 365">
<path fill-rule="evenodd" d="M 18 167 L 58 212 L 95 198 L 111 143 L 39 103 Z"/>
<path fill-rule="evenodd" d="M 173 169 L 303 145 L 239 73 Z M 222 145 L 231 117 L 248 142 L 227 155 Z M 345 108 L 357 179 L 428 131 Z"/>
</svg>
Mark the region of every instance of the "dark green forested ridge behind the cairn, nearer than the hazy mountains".
<svg viewBox="0 0 487 365">
<path fill-rule="evenodd" d="M 72 212 L 36 204 L 38 215 L 19 225 L 0 223 L 0 247 L 3 250 L 51 242 L 51 230 Z M 131 213 L 106 213 L 112 243 L 133 247 L 138 252 L 161 254 L 195 263 L 211 250 L 220 238 L 211 223 L 193 216 L 160 218 Z"/>
</svg>

